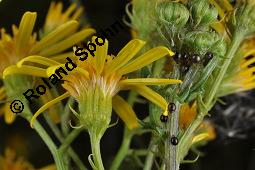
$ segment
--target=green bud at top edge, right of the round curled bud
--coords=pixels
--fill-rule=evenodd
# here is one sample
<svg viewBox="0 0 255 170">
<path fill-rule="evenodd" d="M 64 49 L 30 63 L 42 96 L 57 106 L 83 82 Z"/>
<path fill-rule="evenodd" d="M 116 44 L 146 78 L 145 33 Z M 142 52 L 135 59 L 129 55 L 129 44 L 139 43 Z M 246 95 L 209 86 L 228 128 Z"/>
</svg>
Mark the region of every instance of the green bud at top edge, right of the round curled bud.
<svg viewBox="0 0 255 170">
<path fill-rule="evenodd" d="M 218 11 L 210 6 L 208 0 L 191 0 L 188 5 L 195 26 L 206 26 L 217 20 Z"/>
</svg>

